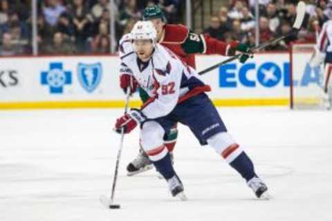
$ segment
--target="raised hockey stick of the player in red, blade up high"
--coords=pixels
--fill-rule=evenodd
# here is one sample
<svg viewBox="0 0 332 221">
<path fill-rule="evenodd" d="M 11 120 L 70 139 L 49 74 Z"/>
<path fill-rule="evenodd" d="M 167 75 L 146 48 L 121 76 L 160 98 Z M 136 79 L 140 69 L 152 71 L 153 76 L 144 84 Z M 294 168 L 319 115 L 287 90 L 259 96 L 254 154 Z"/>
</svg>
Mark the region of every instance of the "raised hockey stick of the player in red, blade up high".
<svg viewBox="0 0 332 221">
<path fill-rule="evenodd" d="M 285 39 L 286 37 L 289 37 L 291 35 L 295 35 L 299 31 L 299 29 L 301 28 L 301 26 L 302 26 L 302 23 L 303 23 L 303 20 L 304 20 L 304 15 L 306 15 L 306 3 L 304 3 L 303 1 L 299 1 L 299 3 L 297 3 L 296 19 L 295 19 L 295 22 L 293 24 L 292 30 L 289 31 L 288 33 L 286 33 L 285 35 L 277 37 L 276 39 L 272 39 L 270 41 L 266 41 L 266 43 L 264 43 L 264 44 L 260 44 L 259 46 L 251 48 L 251 50 L 250 50 L 250 52 L 248 52 L 248 54 L 253 54 L 253 52 L 255 50 L 260 50 L 262 48 L 265 48 L 266 46 L 270 46 L 271 44 L 275 44 L 278 41 L 281 41 L 282 39 Z M 227 64 L 227 63 L 229 63 L 231 61 L 239 59 L 239 57 L 241 57 L 241 55 L 243 55 L 243 54 L 244 53 L 241 53 L 239 55 L 235 55 L 233 57 L 230 57 L 229 59 L 225 59 L 224 61 L 219 62 L 218 64 L 215 64 L 214 66 L 211 66 L 210 68 L 206 68 L 204 70 L 201 70 L 199 72 L 199 75 L 204 75 L 205 73 L 208 73 L 211 70 L 219 68 L 219 66 L 222 66 L 222 65 Z"/>
</svg>

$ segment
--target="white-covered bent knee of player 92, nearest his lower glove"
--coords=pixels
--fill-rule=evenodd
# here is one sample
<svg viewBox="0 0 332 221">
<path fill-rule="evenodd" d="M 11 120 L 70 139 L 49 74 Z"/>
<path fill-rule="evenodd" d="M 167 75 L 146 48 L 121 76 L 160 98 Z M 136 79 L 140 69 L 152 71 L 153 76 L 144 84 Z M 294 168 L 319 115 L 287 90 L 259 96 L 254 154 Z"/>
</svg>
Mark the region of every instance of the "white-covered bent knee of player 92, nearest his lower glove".
<svg viewBox="0 0 332 221">
<path fill-rule="evenodd" d="M 145 152 L 162 146 L 164 133 L 163 127 L 157 122 L 145 122 L 140 131 L 140 143 Z"/>
</svg>

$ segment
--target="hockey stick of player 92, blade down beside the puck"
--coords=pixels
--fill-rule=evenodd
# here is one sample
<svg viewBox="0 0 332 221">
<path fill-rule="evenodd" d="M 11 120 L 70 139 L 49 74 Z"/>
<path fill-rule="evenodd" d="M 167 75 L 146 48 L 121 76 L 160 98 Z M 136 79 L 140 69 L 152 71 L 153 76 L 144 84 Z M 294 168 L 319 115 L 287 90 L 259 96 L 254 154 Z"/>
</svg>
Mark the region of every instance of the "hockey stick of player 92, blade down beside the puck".
<svg viewBox="0 0 332 221">
<path fill-rule="evenodd" d="M 127 111 L 128 111 L 130 93 L 131 93 L 130 88 L 127 88 L 126 100 L 124 103 L 124 115 L 127 114 Z M 118 150 L 118 156 L 116 157 L 116 169 L 114 171 L 114 176 L 113 176 L 111 198 L 108 198 L 107 195 L 100 196 L 100 202 L 102 202 L 102 204 L 104 204 L 104 206 L 106 206 L 109 209 L 120 209 L 120 204 L 113 204 L 113 202 L 114 202 L 114 195 L 116 192 L 116 180 L 118 180 L 118 169 L 119 169 L 119 164 L 120 164 L 123 139 L 124 139 L 124 128 L 121 129 L 121 140 L 120 140 L 120 146 L 119 146 L 119 150 Z"/>
</svg>

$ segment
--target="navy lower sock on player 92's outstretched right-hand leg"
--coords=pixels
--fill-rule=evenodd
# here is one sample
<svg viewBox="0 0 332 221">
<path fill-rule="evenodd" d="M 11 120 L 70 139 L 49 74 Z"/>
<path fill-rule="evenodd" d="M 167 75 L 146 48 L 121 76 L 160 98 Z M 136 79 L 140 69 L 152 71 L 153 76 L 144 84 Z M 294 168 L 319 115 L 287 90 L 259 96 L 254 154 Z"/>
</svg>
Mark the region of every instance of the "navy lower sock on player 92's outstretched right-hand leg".
<svg viewBox="0 0 332 221">
<path fill-rule="evenodd" d="M 239 172 L 241 176 L 246 179 L 247 182 L 251 180 L 252 177 L 257 177 L 257 175 L 255 174 L 254 164 L 252 164 L 252 161 L 244 152 L 242 152 L 237 158 L 235 158 L 230 163 L 230 166 L 232 166 L 232 168 Z"/>
</svg>

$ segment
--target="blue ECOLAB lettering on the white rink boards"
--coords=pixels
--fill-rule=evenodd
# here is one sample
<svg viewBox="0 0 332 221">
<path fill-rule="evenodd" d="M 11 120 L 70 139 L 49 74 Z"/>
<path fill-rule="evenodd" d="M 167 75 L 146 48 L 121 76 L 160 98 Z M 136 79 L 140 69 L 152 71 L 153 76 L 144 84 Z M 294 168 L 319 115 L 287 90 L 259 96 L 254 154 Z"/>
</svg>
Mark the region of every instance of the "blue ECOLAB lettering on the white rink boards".
<svg viewBox="0 0 332 221">
<path fill-rule="evenodd" d="M 246 64 L 225 64 L 219 68 L 219 86 L 221 88 L 274 88 L 275 86 L 288 87 L 291 84 L 289 62 L 275 63 L 266 61 L 261 64 L 248 61 Z M 320 84 L 320 69 L 311 68 L 308 62 L 293 67 L 294 86 L 306 87 L 310 84 Z"/>
</svg>

